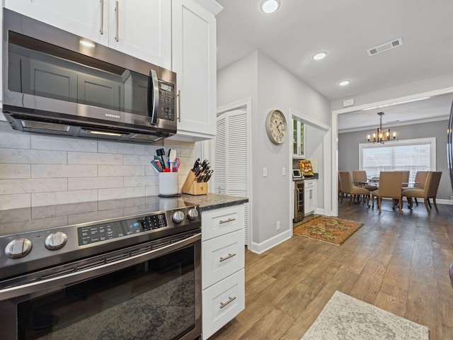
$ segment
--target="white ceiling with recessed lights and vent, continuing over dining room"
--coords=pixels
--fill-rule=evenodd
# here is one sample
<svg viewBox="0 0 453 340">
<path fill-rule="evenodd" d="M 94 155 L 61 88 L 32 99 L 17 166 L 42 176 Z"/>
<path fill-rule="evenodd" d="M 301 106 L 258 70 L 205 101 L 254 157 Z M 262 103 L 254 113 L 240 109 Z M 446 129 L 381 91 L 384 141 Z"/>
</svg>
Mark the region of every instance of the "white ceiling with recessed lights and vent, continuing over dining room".
<svg viewBox="0 0 453 340">
<path fill-rule="evenodd" d="M 217 0 L 224 7 L 217 15 L 217 69 L 260 50 L 329 101 L 453 74 L 453 0 L 280 1 L 277 12 L 265 14 L 260 0 Z M 401 47 L 369 57 L 369 48 L 398 38 Z M 328 56 L 312 60 L 321 50 Z M 352 82 L 338 86 L 343 79 Z M 392 117 L 399 107 L 409 118 L 438 116 L 437 106 L 445 112 L 448 101 L 451 106 L 452 96 L 380 111 L 387 120 L 407 119 Z M 423 107 L 430 102 L 436 108 Z M 379 123 L 377 111 L 363 112 L 366 118 L 348 119 L 371 116 Z M 353 117 L 343 114 L 340 120 L 347 116 Z"/>
</svg>

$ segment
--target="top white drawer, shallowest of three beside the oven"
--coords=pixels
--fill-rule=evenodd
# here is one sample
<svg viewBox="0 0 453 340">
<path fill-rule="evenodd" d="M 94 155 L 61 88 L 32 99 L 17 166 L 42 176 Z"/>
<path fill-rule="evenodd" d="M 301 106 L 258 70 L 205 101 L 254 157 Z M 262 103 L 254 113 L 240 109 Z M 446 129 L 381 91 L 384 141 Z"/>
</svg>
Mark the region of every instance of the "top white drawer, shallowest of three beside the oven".
<svg viewBox="0 0 453 340">
<path fill-rule="evenodd" d="M 243 210 L 241 204 L 202 212 L 202 241 L 243 229 Z"/>
</svg>

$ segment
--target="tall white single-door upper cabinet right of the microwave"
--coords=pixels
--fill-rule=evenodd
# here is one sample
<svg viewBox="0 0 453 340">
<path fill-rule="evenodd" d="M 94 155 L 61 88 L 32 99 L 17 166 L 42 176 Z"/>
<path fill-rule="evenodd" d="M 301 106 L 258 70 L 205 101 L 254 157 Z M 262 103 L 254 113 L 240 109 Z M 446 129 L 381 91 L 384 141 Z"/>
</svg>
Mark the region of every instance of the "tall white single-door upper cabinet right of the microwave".
<svg viewBox="0 0 453 340">
<path fill-rule="evenodd" d="M 205 140 L 216 133 L 216 19 L 195 0 L 173 0 L 173 71 L 178 75 L 178 134 L 171 138 Z M 216 10 L 217 8 L 217 10 Z M 217 12 L 217 13 L 216 13 Z"/>
</svg>

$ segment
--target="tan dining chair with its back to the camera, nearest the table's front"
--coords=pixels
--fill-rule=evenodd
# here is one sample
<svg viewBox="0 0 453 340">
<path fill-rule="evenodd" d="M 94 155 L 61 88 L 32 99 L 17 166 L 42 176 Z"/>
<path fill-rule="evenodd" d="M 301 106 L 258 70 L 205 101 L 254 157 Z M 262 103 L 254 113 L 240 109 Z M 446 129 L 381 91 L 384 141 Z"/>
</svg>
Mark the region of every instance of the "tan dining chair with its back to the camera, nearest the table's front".
<svg viewBox="0 0 453 340">
<path fill-rule="evenodd" d="M 381 171 L 379 174 L 379 189 L 371 192 L 372 209 L 374 209 L 374 196 L 376 196 L 379 212 L 381 212 L 382 198 L 391 198 L 392 200 L 398 200 L 399 213 L 403 213 L 403 203 L 401 201 L 402 183 L 403 173 L 401 171 Z"/>
</svg>

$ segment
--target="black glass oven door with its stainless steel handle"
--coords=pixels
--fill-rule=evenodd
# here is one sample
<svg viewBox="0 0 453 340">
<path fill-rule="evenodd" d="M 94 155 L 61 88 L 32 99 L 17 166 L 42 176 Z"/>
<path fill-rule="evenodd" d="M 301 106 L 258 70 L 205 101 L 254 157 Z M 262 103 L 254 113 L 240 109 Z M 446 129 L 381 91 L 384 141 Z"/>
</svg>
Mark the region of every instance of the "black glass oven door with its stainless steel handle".
<svg viewBox="0 0 453 340">
<path fill-rule="evenodd" d="M 71 263 L 79 270 L 62 268 L 62 273 L 0 290 L 3 339 L 197 338 L 200 233 L 157 246 L 103 254 Z"/>
</svg>

